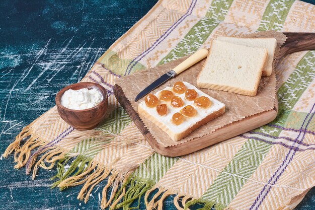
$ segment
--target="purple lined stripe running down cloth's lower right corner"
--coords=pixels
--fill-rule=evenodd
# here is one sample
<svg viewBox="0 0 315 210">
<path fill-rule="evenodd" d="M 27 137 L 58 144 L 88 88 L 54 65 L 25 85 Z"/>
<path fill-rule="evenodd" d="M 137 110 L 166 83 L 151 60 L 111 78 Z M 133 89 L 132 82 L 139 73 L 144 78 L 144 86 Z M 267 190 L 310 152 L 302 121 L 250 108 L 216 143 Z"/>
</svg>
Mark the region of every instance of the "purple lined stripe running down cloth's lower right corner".
<svg viewBox="0 0 315 210">
<path fill-rule="evenodd" d="M 315 104 L 313 104 L 313 106 L 311 107 L 310 111 L 307 113 L 305 119 L 303 120 L 303 123 L 301 125 L 301 129 L 303 128 L 308 116 L 311 114 L 311 112 L 313 111 L 315 107 Z M 305 125 L 305 129 L 307 129 L 308 124 L 310 123 L 310 120 L 313 118 L 314 116 L 314 112 L 311 114 L 311 116 L 309 117 L 306 125 Z M 303 139 L 305 137 L 305 133 L 303 132 L 303 136 L 301 138 L 300 141 L 298 141 L 299 136 L 301 135 L 302 132 L 298 133 L 298 136 L 295 138 L 294 144 L 290 147 L 289 152 L 287 153 L 285 159 L 283 160 L 282 164 L 280 165 L 280 167 L 277 169 L 277 171 L 272 175 L 272 177 L 269 179 L 268 184 L 271 183 L 270 185 L 265 185 L 264 188 L 261 190 L 261 192 L 259 193 L 259 195 L 257 196 L 257 198 L 255 199 L 253 205 L 250 207 L 250 210 L 252 209 L 258 209 L 259 206 L 262 204 L 262 202 L 264 201 L 264 199 L 266 198 L 266 196 L 268 195 L 269 191 L 271 190 L 272 185 L 274 185 L 278 179 L 280 178 L 280 176 L 282 175 L 282 173 L 285 171 L 285 169 L 287 168 L 287 166 L 289 165 L 289 163 L 293 160 L 293 157 L 297 151 L 296 148 L 294 148 L 294 145 L 296 143 L 300 143 L 303 142 Z M 291 155 L 291 157 L 289 158 L 289 156 Z M 281 169 L 282 168 L 282 169 Z M 281 170 L 281 171 L 280 171 Z M 280 172 L 279 172 L 280 171 Z M 279 172 L 279 174 L 278 174 Z M 258 204 L 257 204 L 258 203 Z"/>
</svg>

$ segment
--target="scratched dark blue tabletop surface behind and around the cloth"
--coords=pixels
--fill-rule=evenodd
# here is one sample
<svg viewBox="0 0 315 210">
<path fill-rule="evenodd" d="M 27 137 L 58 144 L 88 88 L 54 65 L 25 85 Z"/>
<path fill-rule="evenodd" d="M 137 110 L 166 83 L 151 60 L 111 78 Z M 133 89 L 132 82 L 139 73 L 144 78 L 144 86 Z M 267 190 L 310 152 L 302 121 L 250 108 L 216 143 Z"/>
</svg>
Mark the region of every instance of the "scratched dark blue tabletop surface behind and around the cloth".
<svg viewBox="0 0 315 210">
<path fill-rule="evenodd" d="M 55 94 L 62 87 L 80 81 L 97 58 L 156 2 L 0 2 L 0 209 L 100 209 L 106 181 L 85 204 L 76 199 L 81 186 L 62 192 L 49 188 L 55 170 L 39 170 L 32 181 L 24 168 L 13 168 L 12 156 L 4 159 L 2 154 L 23 126 L 54 106 Z M 165 206 L 175 209 L 172 197 Z M 296 209 L 315 209 L 315 189 Z"/>
</svg>

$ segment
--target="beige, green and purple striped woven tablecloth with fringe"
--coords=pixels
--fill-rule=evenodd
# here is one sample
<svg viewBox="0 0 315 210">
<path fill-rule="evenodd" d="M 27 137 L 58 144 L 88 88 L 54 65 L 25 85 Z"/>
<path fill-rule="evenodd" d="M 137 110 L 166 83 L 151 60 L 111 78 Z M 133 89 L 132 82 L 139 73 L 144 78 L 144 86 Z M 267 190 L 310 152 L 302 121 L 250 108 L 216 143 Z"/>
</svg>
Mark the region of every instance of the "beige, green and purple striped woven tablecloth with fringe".
<svg viewBox="0 0 315 210">
<path fill-rule="evenodd" d="M 177 194 L 178 209 L 196 203 L 204 209 L 292 209 L 315 184 L 315 51 L 293 53 L 279 63 L 276 120 L 178 158 L 155 153 L 113 96 L 117 78 L 209 48 L 219 35 L 267 30 L 315 32 L 315 6 L 284 0 L 161 0 L 83 79 L 108 90 L 110 113 L 100 127 L 140 140 L 104 145 L 95 138 L 72 139 L 78 131 L 53 107 L 22 130 L 4 157 L 15 152 L 16 168 L 25 166 L 33 178 L 39 167 L 57 166 L 53 186 L 81 184 L 78 198 L 85 201 L 108 178 L 102 208 L 128 209 L 144 195 L 148 209 L 162 209 L 163 200 Z"/>
</svg>

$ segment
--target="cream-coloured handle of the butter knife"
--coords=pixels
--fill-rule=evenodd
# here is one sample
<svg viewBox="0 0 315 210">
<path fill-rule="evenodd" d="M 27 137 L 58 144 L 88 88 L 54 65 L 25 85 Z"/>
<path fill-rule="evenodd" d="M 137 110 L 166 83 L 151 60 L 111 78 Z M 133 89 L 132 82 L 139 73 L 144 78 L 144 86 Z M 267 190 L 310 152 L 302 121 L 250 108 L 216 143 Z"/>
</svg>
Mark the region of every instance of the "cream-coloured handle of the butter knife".
<svg viewBox="0 0 315 210">
<path fill-rule="evenodd" d="M 187 68 L 195 64 L 196 62 L 199 62 L 203 58 L 205 58 L 208 55 L 209 51 L 207 49 L 200 49 L 194 54 L 192 54 L 189 58 L 184 60 L 182 63 L 180 63 L 178 66 L 173 68 L 173 71 L 176 72 L 176 74 L 180 74 L 184 72 Z"/>
</svg>

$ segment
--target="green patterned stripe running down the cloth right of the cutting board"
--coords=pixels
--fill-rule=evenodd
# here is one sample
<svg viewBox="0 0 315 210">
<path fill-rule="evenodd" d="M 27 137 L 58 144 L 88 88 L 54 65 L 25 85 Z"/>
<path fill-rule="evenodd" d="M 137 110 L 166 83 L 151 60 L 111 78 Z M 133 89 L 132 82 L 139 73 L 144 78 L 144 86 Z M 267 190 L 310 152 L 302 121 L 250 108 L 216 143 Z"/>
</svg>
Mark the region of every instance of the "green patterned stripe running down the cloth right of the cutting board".
<svg viewBox="0 0 315 210">
<path fill-rule="evenodd" d="M 296 65 L 289 79 L 280 87 L 278 95 L 279 106 L 283 107 L 282 110 L 285 110 L 284 108 L 293 108 L 308 85 L 313 81 L 315 77 L 315 64 L 313 59 L 313 52 L 310 51 L 306 53 Z M 303 71 L 301 71 L 301 69 L 303 69 Z M 285 115 L 283 116 L 283 114 Z M 285 125 L 287 118 L 288 114 L 279 110 L 278 116 L 273 123 Z M 280 123 L 279 120 L 281 120 Z M 266 132 L 274 129 L 273 127 L 265 125 L 256 129 L 256 131 Z M 278 136 L 280 132 L 281 130 L 278 129 L 278 132 L 273 133 L 273 135 Z M 265 142 L 248 139 L 232 161 L 223 169 L 223 173 L 218 175 L 209 189 L 203 194 L 202 198 L 227 206 L 241 190 L 247 179 L 252 176 L 262 163 L 271 146 L 271 144 Z M 230 174 L 237 174 L 238 177 Z"/>
</svg>

